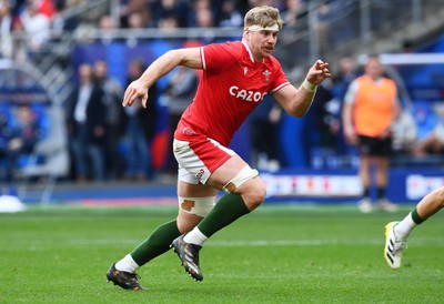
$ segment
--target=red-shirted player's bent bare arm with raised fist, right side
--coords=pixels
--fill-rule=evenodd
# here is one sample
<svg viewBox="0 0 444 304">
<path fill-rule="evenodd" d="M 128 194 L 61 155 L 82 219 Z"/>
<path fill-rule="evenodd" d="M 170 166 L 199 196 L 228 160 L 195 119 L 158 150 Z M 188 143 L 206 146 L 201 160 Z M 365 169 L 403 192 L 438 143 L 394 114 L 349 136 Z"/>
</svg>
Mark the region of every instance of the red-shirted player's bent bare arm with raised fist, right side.
<svg viewBox="0 0 444 304">
<path fill-rule="evenodd" d="M 331 77 L 329 63 L 317 60 L 310 68 L 305 80 L 312 85 L 317 85 L 329 77 Z M 301 85 L 299 89 L 293 85 L 286 85 L 275 92 L 273 97 L 290 115 L 302 118 L 312 105 L 314 94 L 315 91 L 312 92 L 304 85 Z"/>
</svg>

